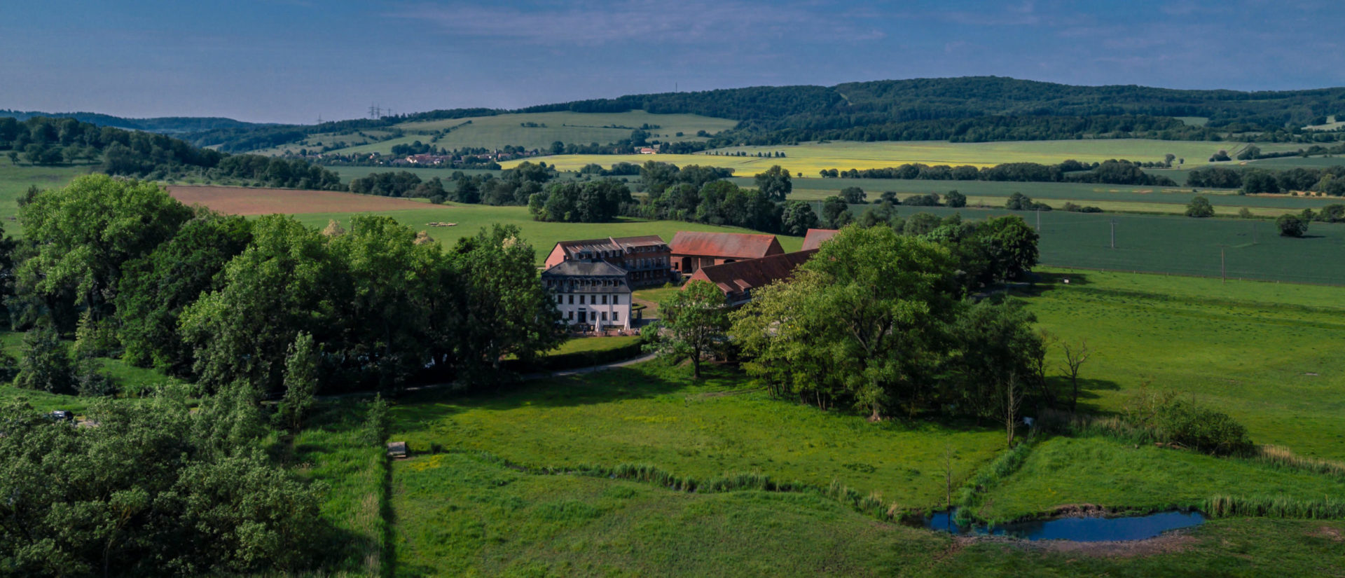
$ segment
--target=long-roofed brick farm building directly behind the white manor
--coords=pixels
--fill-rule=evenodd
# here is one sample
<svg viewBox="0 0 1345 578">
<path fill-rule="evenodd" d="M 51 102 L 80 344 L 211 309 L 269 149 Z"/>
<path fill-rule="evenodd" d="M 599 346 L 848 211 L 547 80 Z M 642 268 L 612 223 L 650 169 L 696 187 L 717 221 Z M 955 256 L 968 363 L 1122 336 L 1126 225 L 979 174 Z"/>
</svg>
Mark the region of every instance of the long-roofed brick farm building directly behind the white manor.
<svg viewBox="0 0 1345 578">
<path fill-rule="evenodd" d="M 658 235 L 561 241 L 546 255 L 546 269 L 566 261 L 605 261 L 625 270 L 632 288 L 674 281 L 668 243 Z"/>
</svg>

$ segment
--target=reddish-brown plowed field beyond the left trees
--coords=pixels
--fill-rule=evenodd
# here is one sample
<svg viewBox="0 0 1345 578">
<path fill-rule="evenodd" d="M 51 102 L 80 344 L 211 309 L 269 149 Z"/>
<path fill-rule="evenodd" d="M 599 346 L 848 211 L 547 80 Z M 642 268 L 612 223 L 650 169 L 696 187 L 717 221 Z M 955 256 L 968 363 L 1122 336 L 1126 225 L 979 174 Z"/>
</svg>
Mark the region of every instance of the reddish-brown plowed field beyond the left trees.
<svg viewBox="0 0 1345 578">
<path fill-rule="evenodd" d="M 168 194 L 186 204 L 204 204 L 215 211 L 233 215 L 364 212 L 432 207 L 428 203 L 387 196 L 292 188 L 171 185 Z"/>
</svg>

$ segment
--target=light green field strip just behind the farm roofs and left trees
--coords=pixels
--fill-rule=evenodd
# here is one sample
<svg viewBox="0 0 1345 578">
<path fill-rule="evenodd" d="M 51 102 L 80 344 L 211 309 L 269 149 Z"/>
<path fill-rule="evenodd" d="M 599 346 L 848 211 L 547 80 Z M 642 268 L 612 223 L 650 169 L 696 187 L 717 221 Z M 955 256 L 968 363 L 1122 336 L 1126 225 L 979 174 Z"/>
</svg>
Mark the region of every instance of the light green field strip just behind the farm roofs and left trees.
<svg viewBox="0 0 1345 578">
<path fill-rule="evenodd" d="M 677 231 L 726 231 L 726 233 L 757 233 L 746 229 L 717 227 L 713 224 L 683 223 L 679 220 L 633 220 L 623 219 L 615 223 L 542 223 L 533 220 L 527 214 L 527 207 L 491 207 L 484 204 L 444 204 L 424 210 L 387 211 L 383 212 L 398 222 L 416 229 L 424 229 L 430 237 L 444 242 L 455 243 L 461 237 L 475 235 L 482 227 L 492 223 L 516 224 L 523 231 L 523 239 L 533 243 L 537 250 L 537 261 L 542 262 L 560 241 L 566 239 L 593 239 L 604 237 L 625 235 L 659 235 L 672 241 Z M 351 214 L 300 214 L 299 220 L 309 226 L 323 227 L 330 219 L 344 222 Z M 429 222 L 457 223 L 453 227 L 426 227 Z M 796 251 L 803 245 L 800 237 L 779 237 L 780 245 L 787 251 Z"/>
</svg>

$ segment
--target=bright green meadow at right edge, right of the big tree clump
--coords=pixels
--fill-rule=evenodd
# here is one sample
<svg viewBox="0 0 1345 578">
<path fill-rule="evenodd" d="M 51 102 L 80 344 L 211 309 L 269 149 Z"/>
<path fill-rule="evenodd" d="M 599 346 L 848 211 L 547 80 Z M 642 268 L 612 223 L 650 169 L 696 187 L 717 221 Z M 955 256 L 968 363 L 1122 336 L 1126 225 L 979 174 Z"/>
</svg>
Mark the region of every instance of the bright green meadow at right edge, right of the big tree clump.
<svg viewBox="0 0 1345 578">
<path fill-rule="evenodd" d="M 1071 285 L 1048 284 L 1029 304 L 1044 329 L 1095 352 L 1085 409 L 1115 411 L 1141 387 L 1171 388 L 1232 414 L 1258 444 L 1345 458 L 1345 359 L 1333 345 L 1345 289 L 1068 276 Z"/>
</svg>

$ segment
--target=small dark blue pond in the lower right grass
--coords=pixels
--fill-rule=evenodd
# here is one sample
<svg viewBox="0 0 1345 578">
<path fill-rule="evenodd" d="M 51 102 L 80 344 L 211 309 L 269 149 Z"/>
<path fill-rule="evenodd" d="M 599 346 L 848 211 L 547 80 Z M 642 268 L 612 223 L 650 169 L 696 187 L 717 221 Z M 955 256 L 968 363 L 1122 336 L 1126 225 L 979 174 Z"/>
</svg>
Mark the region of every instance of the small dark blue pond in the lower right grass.
<svg viewBox="0 0 1345 578">
<path fill-rule="evenodd" d="M 1119 518 L 1056 518 L 1053 520 L 1013 522 L 1007 524 L 958 526 L 958 511 L 935 512 L 924 527 L 943 532 L 979 536 L 1013 536 L 1026 540 L 1111 542 L 1143 540 L 1177 528 L 1189 528 L 1205 522 L 1200 512 L 1167 511 L 1143 516 Z"/>
</svg>

